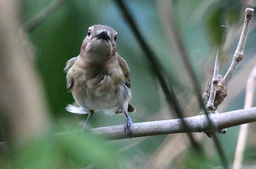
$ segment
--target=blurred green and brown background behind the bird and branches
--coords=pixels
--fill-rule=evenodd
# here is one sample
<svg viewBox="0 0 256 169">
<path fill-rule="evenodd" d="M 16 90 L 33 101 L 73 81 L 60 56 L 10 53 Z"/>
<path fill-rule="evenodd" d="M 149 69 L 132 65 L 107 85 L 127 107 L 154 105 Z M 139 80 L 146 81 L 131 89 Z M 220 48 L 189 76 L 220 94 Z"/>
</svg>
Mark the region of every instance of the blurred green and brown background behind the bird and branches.
<svg viewBox="0 0 256 169">
<path fill-rule="evenodd" d="M 87 114 L 72 114 L 65 110 L 65 106 L 73 103 L 74 99 L 67 92 L 63 69 L 71 57 L 79 55 L 88 28 L 95 24 L 110 26 L 118 32 L 117 51 L 130 67 L 132 105 L 136 108 L 136 112 L 130 114 L 133 123 L 177 117 L 167 106 L 147 57 L 114 1 L 63 0 L 35 28 L 23 33 L 20 33 L 20 28 L 54 1 L 0 2 L 3 7 L 4 3 L 9 3 L 15 11 L 11 13 L 10 9 L 8 14 L 8 10 L 6 13 L 2 10 L 0 13 L 0 57 L 3 60 L 0 141 L 7 141 L 2 143 L 5 148 L 0 149 L 1 168 L 217 168 L 222 165 L 213 140 L 204 133 L 193 133 L 204 149 L 204 158 L 196 155 L 186 134 L 116 141 L 106 141 L 89 133 L 56 137 L 59 132 L 81 129 L 87 118 Z M 169 85 L 186 110 L 184 116 L 197 116 L 201 110 L 173 38 L 170 15 L 180 31 L 180 38 L 186 46 L 203 93 L 207 79 L 213 75 L 219 26 L 228 28 L 220 64 L 220 74 L 224 77 L 241 35 L 245 9 L 255 9 L 256 2 L 125 0 L 124 3 L 135 18 L 141 34 L 156 53 Z M 8 20 L 4 19 L 11 18 L 11 15 L 14 15 L 14 24 L 7 24 Z M 230 81 L 228 96 L 219 106 L 219 113 L 243 109 L 245 84 L 256 63 L 255 19 L 252 18 L 243 60 Z M 7 31 L 14 33 L 8 34 Z M 14 44 L 13 48 L 7 48 L 9 44 Z M 15 44 L 26 46 L 26 49 Z M 24 49 L 22 54 L 21 50 Z M 8 53 L 10 50 L 11 53 Z M 16 57 L 8 57 L 8 54 Z M 20 75 L 12 72 L 12 66 L 17 68 L 16 72 Z M 21 82 L 9 80 L 12 75 Z M 25 89 L 20 89 L 22 87 Z M 97 112 L 90 125 L 91 128 L 122 125 L 125 120 L 125 116 L 106 116 Z M 243 162 L 247 168 L 256 166 L 255 129 L 255 123 L 251 123 Z M 239 126 L 229 128 L 224 135 L 217 134 L 230 166 L 234 160 L 238 133 Z"/>
</svg>

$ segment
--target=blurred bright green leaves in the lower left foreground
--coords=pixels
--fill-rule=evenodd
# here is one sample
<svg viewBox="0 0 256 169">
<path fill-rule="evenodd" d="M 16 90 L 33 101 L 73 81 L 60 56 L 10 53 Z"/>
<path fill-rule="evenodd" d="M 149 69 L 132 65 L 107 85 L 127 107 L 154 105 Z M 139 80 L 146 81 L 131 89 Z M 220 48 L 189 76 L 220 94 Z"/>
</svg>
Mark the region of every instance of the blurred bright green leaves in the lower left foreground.
<svg viewBox="0 0 256 169">
<path fill-rule="evenodd" d="M 13 168 L 59 169 L 95 168 L 112 169 L 122 167 L 121 156 L 113 153 L 117 149 L 105 144 L 106 140 L 90 133 L 76 132 L 67 135 L 48 134 L 42 138 L 14 143 L 12 148 Z M 2 159 L 6 160 L 6 159 Z M 8 166 L 2 166 L 7 168 Z"/>
</svg>

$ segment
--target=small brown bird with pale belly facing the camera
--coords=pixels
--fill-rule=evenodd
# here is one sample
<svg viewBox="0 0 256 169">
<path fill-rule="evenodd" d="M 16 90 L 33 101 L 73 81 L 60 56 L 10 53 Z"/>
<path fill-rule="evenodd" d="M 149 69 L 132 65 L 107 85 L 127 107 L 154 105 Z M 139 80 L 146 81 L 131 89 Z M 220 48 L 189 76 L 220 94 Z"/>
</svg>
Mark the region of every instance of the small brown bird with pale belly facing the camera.
<svg viewBox="0 0 256 169">
<path fill-rule="evenodd" d="M 68 104 L 66 110 L 72 113 L 89 114 L 83 129 L 95 110 L 105 114 L 124 114 L 124 132 L 131 138 L 132 119 L 127 112 L 135 112 L 130 104 L 132 97 L 129 68 L 126 61 L 117 54 L 117 32 L 103 25 L 89 27 L 83 40 L 80 55 L 67 61 L 67 89 L 78 105 Z"/>
</svg>

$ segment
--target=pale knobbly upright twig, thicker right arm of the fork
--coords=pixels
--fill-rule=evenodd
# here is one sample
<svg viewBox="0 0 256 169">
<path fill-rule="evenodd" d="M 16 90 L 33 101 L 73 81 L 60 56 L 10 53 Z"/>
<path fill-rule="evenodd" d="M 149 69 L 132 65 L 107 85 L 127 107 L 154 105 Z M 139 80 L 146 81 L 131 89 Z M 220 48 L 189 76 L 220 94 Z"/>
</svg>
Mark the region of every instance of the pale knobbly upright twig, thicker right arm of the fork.
<svg viewBox="0 0 256 169">
<path fill-rule="evenodd" d="M 249 33 L 249 26 L 250 26 L 250 21 L 252 19 L 253 12 L 254 12 L 254 9 L 250 7 L 247 7 L 245 10 L 245 23 L 243 25 L 241 37 L 237 45 L 237 48 L 233 57 L 233 61 L 222 81 L 222 84 L 224 85 L 225 90 L 228 89 L 228 82 L 230 81 L 234 72 L 236 71 L 238 63 L 243 59 L 243 50 L 245 48 L 245 42 Z"/>
</svg>

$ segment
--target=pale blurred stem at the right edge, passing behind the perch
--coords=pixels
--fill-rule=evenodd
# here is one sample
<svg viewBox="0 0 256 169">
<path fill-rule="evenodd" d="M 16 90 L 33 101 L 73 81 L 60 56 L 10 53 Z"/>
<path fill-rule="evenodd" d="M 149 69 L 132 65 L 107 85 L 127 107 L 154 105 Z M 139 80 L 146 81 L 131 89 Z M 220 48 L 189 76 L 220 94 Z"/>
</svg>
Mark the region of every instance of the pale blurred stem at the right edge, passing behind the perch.
<svg viewBox="0 0 256 169">
<path fill-rule="evenodd" d="M 255 93 L 255 86 L 256 86 L 256 65 L 252 69 L 252 72 L 250 73 L 250 76 L 247 81 L 244 108 L 252 107 L 254 93 Z M 247 136 L 248 136 L 248 128 L 249 128 L 248 123 L 240 126 L 233 169 L 240 169 L 242 166 L 243 155 L 244 155 L 245 145 L 246 145 Z"/>
</svg>

